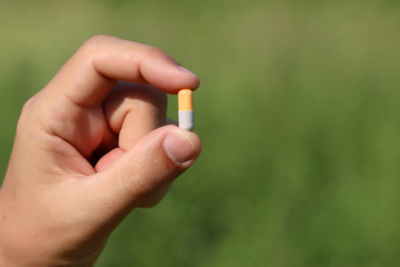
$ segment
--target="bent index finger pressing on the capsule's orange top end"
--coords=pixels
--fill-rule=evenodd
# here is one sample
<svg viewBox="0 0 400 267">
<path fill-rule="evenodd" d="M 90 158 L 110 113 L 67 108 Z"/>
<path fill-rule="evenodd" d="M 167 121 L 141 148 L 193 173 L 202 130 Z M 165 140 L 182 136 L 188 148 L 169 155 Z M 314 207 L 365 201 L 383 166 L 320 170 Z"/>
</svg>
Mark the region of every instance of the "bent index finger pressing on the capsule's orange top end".
<svg viewBox="0 0 400 267">
<path fill-rule="evenodd" d="M 79 106 L 100 103 L 118 80 L 150 83 L 168 93 L 198 88 L 196 75 L 154 47 L 92 37 L 51 80 L 51 90 Z"/>
</svg>

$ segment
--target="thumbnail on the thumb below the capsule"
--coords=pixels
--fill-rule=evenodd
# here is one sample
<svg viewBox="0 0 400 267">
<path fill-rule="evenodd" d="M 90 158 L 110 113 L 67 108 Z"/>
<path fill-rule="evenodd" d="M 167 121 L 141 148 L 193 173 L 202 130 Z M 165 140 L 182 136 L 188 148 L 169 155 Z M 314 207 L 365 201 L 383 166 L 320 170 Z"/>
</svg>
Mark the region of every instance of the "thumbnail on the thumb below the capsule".
<svg viewBox="0 0 400 267">
<path fill-rule="evenodd" d="M 168 157 L 177 164 L 186 162 L 196 155 L 196 147 L 183 130 L 168 131 L 162 145 Z"/>
</svg>

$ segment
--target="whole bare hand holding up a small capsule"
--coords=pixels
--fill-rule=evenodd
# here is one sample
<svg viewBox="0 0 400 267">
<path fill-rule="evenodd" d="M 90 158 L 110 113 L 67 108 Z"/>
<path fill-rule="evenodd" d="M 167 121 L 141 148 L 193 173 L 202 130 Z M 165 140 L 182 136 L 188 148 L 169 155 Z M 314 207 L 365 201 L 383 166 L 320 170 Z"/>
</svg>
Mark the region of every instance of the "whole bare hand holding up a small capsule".
<svg viewBox="0 0 400 267">
<path fill-rule="evenodd" d="M 198 86 L 157 48 L 83 43 L 22 109 L 0 189 L 0 266 L 93 266 L 118 224 L 198 158 L 199 137 L 166 118 L 166 95 Z"/>
</svg>

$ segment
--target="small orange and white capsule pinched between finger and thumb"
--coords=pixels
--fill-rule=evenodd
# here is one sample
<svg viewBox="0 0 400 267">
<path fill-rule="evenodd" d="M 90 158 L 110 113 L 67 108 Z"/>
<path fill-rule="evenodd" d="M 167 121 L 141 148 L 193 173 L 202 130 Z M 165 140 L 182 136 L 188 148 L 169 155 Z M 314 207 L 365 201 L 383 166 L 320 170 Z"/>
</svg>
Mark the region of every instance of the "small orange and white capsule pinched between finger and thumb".
<svg viewBox="0 0 400 267">
<path fill-rule="evenodd" d="M 182 89 L 178 92 L 178 120 L 179 128 L 190 131 L 193 130 L 193 91 L 190 89 Z"/>
</svg>

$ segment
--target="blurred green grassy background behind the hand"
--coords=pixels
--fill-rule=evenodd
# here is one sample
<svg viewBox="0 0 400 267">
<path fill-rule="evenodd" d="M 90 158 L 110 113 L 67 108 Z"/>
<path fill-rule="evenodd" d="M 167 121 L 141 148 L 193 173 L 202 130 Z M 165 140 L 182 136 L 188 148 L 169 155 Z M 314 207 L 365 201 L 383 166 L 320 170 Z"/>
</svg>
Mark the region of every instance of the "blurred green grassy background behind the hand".
<svg viewBox="0 0 400 267">
<path fill-rule="evenodd" d="M 399 1 L 0 0 L 2 174 L 23 102 L 99 33 L 201 78 L 203 152 L 98 267 L 399 265 Z"/>
</svg>

